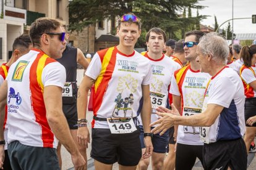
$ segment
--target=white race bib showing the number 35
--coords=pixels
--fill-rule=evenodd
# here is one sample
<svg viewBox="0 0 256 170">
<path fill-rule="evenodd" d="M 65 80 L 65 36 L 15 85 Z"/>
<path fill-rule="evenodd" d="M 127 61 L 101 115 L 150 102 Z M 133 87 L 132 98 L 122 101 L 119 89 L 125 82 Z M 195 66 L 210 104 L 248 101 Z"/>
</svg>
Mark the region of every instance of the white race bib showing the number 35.
<svg viewBox="0 0 256 170">
<path fill-rule="evenodd" d="M 150 100 L 152 108 L 166 107 L 166 95 L 158 92 L 150 92 Z"/>
</svg>

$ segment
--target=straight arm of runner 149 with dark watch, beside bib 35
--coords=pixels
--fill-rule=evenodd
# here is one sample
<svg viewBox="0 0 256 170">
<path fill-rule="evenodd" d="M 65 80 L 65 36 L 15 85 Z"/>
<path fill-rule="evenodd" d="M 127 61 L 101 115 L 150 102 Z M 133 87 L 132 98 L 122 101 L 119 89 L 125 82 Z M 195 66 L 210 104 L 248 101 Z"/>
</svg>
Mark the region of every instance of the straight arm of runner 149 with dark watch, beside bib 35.
<svg viewBox="0 0 256 170">
<path fill-rule="evenodd" d="M 151 100 L 150 100 L 150 86 L 142 85 L 142 96 L 143 96 L 143 106 L 142 113 L 140 117 L 142 118 L 143 129 L 145 133 L 150 133 L 150 120 L 151 120 Z M 153 152 L 153 145 L 151 142 L 151 137 L 144 137 L 146 150 L 143 153 L 143 158 L 149 158 Z"/>
</svg>

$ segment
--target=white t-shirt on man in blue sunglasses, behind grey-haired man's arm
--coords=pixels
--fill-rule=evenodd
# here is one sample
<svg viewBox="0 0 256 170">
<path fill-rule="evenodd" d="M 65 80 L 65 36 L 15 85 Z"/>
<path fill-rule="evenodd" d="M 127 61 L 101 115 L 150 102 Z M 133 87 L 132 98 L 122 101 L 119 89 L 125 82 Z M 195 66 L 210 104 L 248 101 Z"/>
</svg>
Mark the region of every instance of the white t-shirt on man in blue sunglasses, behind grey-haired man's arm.
<svg viewBox="0 0 256 170">
<path fill-rule="evenodd" d="M 202 112 L 203 95 L 210 77 L 208 73 L 192 70 L 190 65 L 174 72 L 170 93 L 181 95 L 182 116 Z M 203 145 L 199 137 L 199 127 L 179 125 L 177 143 Z"/>
</svg>

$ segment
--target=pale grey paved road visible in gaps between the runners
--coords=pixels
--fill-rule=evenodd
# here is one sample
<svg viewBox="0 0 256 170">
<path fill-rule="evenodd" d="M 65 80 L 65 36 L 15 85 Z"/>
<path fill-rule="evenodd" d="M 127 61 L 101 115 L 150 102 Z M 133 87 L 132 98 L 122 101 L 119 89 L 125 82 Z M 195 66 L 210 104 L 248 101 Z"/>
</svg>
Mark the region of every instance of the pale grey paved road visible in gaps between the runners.
<svg viewBox="0 0 256 170">
<path fill-rule="evenodd" d="M 89 122 L 92 121 L 92 116 L 93 116 L 92 111 L 88 111 L 87 112 L 87 119 L 88 119 Z M 88 129 L 89 129 L 90 134 L 91 134 L 91 124 L 90 123 L 88 124 Z M 255 140 L 255 142 L 256 142 L 256 140 Z M 90 151 L 91 151 L 91 145 L 89 145 L 88 149 L 87 149 L 88 170 L 94 169 L 93 160 L 92 160 L 92 158 L 90 158 Z M 74 166 L 73 166 L 71 158 L 70 158 L 70 154 L 67 152 L 67 150 L 64 147 L 62 147 L 61 155 L 62 155 L 62 169 L 64 169 L 64 170 L 74 169 L 73 168 Z M 256 159 L 254 157 L 255 157 L 255 153 L 249 153 L 248 160 L 250 162 L 250 165 L 247 168 L 247 170 L 255 170 L 256 169 Z M 113 169 L 118 169 L 118 165 L 114 164 Z M 151 167 L 148 168 L 148 169 L 151 169 Z M 203 168 L 201 167 L 200 163 L 198 163 L 198 162 L 195 163 L 195 166 L 194 166 L 193 170 L 202 170 L 202 169 Z"/>
</svg>

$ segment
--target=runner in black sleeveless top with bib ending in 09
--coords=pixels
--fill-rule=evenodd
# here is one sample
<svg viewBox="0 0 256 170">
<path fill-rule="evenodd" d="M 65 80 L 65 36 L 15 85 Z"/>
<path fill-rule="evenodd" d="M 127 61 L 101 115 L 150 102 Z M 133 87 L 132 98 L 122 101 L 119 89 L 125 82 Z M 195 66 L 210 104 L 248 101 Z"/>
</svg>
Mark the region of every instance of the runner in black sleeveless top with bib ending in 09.
<svg viewBox="0 0 256 170">
<path fill-rule="evenodd" d="M 62 27 L 66 31 L 67 41 L 69 39 L 67 26 L 62 25 Z M 57 61 L 66 68 L 66 83 L 62 91 L 62 110 L 67 119 L 67 123 L 69 124 L 71 136 L 83 158 L 87 160 L 86 147 L 79 145 L 77 141 L 77 63 L 79 63 L 85 70 L 89 63 L 79 48 L 70 47 L 67 44 L 65 44 L 65 50 L 61 59 L 57 59 Z M 61 142 L 58 144 L 57 154 L 59 158 L 59 166 L 62 167 Z"/>
</svg>

